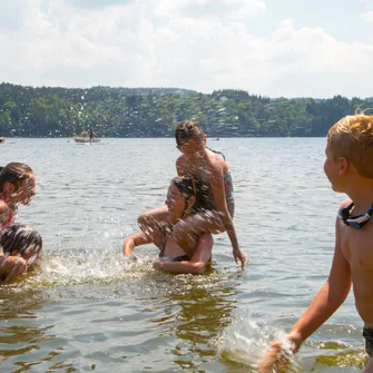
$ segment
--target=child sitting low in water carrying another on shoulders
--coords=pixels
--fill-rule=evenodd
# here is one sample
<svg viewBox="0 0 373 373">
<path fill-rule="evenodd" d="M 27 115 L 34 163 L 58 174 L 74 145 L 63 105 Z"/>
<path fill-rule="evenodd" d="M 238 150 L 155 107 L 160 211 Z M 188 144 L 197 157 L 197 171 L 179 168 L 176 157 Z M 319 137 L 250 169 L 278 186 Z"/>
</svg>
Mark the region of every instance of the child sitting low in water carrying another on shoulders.
<svg viewBox="0 0 373 373">
<path fill-rule="evenodd" d="M 179 222 L 203 210 L 206 205 L 204 189 L 193 177 L 175 177 L 165 202 L 167 208 L 167 225 L 164 229 L 144 232 L 125 239 L 124 254 L 130 256 L 135 246 L 154 243 L 160 249 L 159 257 L 166 261 L 154 263 L 159 271 L 170 273 L 189 273 L 198 275 L 205 271 L 213 248 L 213 236 L 203 233 L 199 236 L 189 235 L 184 246 L 179 246 L 171 237 L 173 228 Z"/>
</svg>

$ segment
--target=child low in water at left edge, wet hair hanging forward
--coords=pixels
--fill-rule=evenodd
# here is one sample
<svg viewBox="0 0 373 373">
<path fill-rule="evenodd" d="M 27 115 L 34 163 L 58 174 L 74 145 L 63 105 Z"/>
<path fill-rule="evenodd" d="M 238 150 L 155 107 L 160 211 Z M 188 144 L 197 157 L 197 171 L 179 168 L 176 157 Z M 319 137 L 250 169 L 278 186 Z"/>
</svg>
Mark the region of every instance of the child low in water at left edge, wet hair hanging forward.
<svg viewBox="0 0 373 373">
<path fill-rule="evenodd" d="M 10 282 L 40 264 L 42 239 L 31 227 L 13 224 L 2 230 L 0 242 L 0 282 Z"/>
</svg>

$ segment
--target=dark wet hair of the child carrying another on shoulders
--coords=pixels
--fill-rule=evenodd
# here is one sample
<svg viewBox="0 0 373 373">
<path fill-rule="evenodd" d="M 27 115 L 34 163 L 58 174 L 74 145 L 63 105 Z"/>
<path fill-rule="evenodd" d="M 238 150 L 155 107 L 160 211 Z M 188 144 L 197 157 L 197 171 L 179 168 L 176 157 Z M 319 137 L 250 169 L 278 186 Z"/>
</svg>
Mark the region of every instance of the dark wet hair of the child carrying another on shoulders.
<svg viewBox="0 0 373 373">
<path fill-rule="evenodd" d="M 196 202 L 192 208 L 194 213 L 206 209 L 209 190 L 208 185 L 200 183 L 190 175 L 175 177 L 171 179 L 171 183 L 180 190 L 186 199 L 189 199 L 192 196 L 196 197 Z"/>
</svg>

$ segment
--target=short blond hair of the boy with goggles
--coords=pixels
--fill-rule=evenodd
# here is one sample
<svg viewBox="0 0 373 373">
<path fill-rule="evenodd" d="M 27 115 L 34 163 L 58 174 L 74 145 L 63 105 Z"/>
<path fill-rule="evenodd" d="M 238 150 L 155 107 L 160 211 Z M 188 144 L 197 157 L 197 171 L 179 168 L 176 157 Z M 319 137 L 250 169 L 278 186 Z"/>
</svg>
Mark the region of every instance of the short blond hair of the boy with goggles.
<svg viewBox="0 0 373 373">
<path fill-rule="evenodd" d="M 373 179 L 373 116 L 346 116 L 328 130 L 326 138 L 335 160 L 344 157 L 361 176 Z"/>
</svg>

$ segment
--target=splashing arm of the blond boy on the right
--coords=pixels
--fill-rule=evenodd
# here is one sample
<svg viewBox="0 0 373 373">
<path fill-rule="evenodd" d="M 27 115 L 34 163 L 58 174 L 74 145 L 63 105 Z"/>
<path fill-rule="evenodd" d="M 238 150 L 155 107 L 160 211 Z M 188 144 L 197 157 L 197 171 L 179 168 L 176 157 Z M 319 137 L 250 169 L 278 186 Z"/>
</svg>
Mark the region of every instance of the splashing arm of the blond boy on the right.
<svg viewBox="0 0 373 373">
<path fill-rule="evenodd" d="M 294 324 L 287 338 L 294 345 L 294 353 L 302 343 L 313 334 L 347 297 L 351 288 L 350 264 L 344 257 L 341 247 L 340 220 L 336 220 L 335 252 L 332 268 L 326 283 L 315 296 L 307 311 Z M 282 352 L 282 343 L 274 342 L 272 350 L 259 362 L 259 372 L 269 372 L 278 363 L 278 353 Z"/>
</svg>

